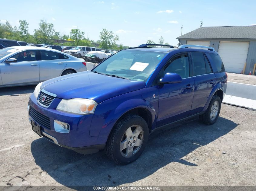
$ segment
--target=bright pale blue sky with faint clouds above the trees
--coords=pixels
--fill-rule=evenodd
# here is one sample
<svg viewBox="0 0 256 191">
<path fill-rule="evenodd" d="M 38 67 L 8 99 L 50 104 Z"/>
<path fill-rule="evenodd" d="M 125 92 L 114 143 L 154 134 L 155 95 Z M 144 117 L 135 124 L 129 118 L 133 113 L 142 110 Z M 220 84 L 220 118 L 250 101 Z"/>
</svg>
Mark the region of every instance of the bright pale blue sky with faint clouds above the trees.
<svg viewBox="0 0 256 191">
<path fill-rule="evenodd" d="M 85 37 L 99 40 L 102 28 L 119 36 L 117 44 L 138 46 L 160 36 L 171 45 L 176 39 L 200 27 L 256 25 L 256 1 L 237 0 L 0 0 L 0 22 L 12 26 L 20 19 L 29 23 L 29 33 L 41 19 L 54 24 L 55 31 L 69 34 L 80 28 Z M 11 11 L 12 10 L 12 11 Z"/>
</svg>

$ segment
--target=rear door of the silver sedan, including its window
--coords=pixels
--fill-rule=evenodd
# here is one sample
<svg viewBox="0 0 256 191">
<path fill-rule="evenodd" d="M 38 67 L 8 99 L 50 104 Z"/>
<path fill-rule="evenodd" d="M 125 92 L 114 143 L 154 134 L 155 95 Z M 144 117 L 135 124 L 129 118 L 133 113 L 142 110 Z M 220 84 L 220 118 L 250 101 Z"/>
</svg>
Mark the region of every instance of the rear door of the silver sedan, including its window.
<svg viewBox="0 0 256 191">
<path fill-rule="evenodd" d="M 58 52 L 40 50 L 40 56 L 40 82 L 60 76 L 67 65 L 66 60 Z"/>
</svg>

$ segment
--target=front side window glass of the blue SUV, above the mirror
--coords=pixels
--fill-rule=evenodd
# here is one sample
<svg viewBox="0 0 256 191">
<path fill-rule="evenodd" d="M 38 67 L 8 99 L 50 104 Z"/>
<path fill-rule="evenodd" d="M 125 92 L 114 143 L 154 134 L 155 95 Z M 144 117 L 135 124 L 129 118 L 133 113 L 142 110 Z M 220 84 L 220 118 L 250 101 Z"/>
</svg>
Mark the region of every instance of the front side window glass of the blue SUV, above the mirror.
<svg viewBox="0 0 256 191">
<path fill-rule="evenodd" d="M 172 58 L 169 63 L 165 66 L 164 75 L 166 73 L 176 73 L 181 78 L 189 77 L 189 62 L 188 55 L 182 54 Z"/>
</svg>

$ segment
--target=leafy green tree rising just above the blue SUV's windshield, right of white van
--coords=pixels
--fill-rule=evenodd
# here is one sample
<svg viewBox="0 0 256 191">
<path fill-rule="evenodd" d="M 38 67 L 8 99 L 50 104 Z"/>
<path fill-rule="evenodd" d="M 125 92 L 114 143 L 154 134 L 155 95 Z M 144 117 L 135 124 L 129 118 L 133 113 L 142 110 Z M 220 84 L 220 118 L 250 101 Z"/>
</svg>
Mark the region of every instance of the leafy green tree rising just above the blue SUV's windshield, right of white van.
<svg viewBox="0 0 256 191">
<path fill-rule="evenodd" d="M 118 35 L 114 35 L 113 31 L 108 31 L 107 29 L 103 28 L 100 33 L 101 38 L 101 48 L 104 49 L 112 49 L 116 47 L 116 41 L 119 40 Z"/>
</svg>

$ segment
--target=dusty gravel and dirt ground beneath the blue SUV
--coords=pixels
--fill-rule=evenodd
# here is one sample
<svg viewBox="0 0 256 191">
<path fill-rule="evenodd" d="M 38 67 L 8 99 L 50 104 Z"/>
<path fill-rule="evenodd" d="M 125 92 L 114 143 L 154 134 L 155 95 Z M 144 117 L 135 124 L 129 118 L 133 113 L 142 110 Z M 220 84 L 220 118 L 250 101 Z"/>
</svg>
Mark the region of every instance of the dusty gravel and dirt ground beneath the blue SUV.
<svg viewBox="0 0 256 191">
<path fill-rule="evenodd" d="M 82 155 L 36 135 L 27 114 L 34 88 L 0 89 L 0 185 L 256 183 L 255 111 L 222 104 L 214 125 L 206 126 L 195 118 L 159 130 L 137 161 L 118 166 L 102 151 Z"/>
</svg>

